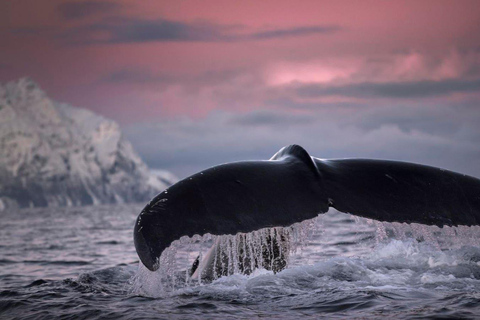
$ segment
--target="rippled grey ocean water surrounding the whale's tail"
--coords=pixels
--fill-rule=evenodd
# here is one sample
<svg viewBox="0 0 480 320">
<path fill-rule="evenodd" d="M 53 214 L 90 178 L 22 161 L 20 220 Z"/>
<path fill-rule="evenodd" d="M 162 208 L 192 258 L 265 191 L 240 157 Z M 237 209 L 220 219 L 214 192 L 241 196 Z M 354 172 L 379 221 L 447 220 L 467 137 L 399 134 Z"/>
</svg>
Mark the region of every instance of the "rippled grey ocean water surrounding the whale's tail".
<svg viewBox="0 0 480 320">
<path fill-rule="evenodd" d="M 382 224 L 332 211 L 290 230 L 282 272 L 199 282 L 183 270 L 214 239 L 182 239 L 168 253 L 170 269 L 152 273 L 133 246 L 140 209 L 0 213 L 0 318 L 480 318 L 477 227 Z"/>
</svg>

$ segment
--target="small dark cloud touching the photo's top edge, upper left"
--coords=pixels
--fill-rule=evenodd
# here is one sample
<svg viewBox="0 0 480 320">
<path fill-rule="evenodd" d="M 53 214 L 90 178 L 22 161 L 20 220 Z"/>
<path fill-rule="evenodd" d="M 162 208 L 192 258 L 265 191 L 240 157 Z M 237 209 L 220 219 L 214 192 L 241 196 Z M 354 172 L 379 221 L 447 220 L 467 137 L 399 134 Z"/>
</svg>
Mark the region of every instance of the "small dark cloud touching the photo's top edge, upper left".
<svg viewBox="0 0 480 320">
<path fill-rule="evenodd" d="M 63 18 L 73 20 L 99 13 L 112 13 L 120 7 L 120 3 L 109 1 L 63 2 L 57 6 L 57 10 Z"/>
</svg>

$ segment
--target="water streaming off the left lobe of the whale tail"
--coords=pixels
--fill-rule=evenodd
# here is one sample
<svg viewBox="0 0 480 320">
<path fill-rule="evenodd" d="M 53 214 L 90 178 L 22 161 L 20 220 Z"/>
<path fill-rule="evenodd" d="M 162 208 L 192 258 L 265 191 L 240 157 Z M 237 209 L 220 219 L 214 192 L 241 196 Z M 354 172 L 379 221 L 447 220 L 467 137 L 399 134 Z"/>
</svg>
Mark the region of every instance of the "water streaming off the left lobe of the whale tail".
<svg viewBox="0 0 480 320">
<path fill-rule="evenodd" d="M 289 266 L 292 253 L 308 246 L 317 224 L 318 220 L 312 219 L 290 227 L 236 235 L 181 237 L 162 253 L 157 271 L 151 272 L 139 263 L 138 272 L 130 281 L 131 292 L 165 296 L 222 276 L 257 274 L 258 269 L 281 271 Z"/>
</svg>

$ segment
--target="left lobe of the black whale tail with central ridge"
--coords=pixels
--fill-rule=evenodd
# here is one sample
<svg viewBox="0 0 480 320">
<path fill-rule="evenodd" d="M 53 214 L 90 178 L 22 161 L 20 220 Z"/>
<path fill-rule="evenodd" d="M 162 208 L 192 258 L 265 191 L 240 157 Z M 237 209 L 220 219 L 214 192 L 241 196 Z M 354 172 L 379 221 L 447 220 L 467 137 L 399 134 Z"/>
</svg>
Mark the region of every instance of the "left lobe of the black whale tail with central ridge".
<svg viewBox="0 0 480 320">
<path fill-rule="evenodd" d="M 271 160 L 222 164 L 177 182 L 142 210 L 134 243 L 153 271 L 161 252 L 182 236 L 290 226 L 327 211 L 313 159 L 302 147 L 290 146 Z"/>
</svg>

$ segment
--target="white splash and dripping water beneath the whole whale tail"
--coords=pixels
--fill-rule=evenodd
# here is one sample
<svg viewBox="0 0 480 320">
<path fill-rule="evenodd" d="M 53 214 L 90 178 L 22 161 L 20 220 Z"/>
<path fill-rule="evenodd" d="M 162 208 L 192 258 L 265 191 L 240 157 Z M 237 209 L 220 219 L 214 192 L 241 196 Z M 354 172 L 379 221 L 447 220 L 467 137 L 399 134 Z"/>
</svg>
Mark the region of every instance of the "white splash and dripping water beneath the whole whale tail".
<svg viewBox="0 0 480 320">
<path fill-rule="evenodd" d="M 362 263 L 374 263 L 380 267 L 384 263 L 398 266 L 400 262 L 409 261 L 412 265 L 406 267 L 407 273 L 418 269 L 419 265 L 428 270 L 443 265 L 451 267 L 462 261 L 463 256 L 458 260 L 457 255 L 444 255 L 443 252 L 461 249 L 458 252 L 468 253 L 471 250 L 466 250 L 466 246 L 480 247 L 479 234 L 480 227 L 439 228 L 385 223 L 332 211 L 288 228 L 267 228 L 236 235 L 182 237 L 164 251 L 156 272 L 139 264 L 138 272 L 131 280 L 131 292 L 150 297 L 169 296 L 175 292 L 215 286 L 220 283 L 218 281 L 224 284 L 225 279 L 236 279 L 245 284 L 259 275 L 277 277 L 277 271 L 287 269 L 278 273 L 278 279 L 281 279 L 294 269 L 303 270 L 319 263 L 328 265 L 336 259 L 348 262 L 349 266 L 361 259 Z M 275 245 L 272 239 L 280 241 L 280 245 Z M 196 260 L 210 261 L 210 264 L 199 263 L 193 272 L 192 265 Z M 280 261 L 284 265 L 279 265 Z M 209 266 L 214 268 L 209 269 Z M 339 272 L 339 268 L 336 264 L 332 272 Z M 352 276 L 348 270 L 345 272 L 345 277 Z M 381 273 L 371 275 L 372 279 L 380 276 Z M 428 273 L 422 281 L 430 283 L 433 281 L 431 277 Z"/>
</svg>

